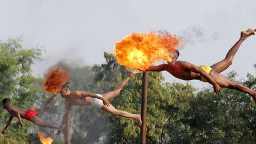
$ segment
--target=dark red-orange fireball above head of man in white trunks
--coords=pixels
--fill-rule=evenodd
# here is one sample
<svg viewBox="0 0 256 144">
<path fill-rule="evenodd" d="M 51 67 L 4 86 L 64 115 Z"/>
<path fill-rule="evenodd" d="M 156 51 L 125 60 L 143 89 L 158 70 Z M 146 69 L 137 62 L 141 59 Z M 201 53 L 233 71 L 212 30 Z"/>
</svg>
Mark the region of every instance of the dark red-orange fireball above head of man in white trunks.
<svg viewBox="0 0 256 144">
<path fill-rule="evenodd" d="M 44 79 L 44 90 L 57 94 L 62 89 L 63 84 L 69 79 L 69 73 L 62 68 L 50 69 Z"/>
</svg>

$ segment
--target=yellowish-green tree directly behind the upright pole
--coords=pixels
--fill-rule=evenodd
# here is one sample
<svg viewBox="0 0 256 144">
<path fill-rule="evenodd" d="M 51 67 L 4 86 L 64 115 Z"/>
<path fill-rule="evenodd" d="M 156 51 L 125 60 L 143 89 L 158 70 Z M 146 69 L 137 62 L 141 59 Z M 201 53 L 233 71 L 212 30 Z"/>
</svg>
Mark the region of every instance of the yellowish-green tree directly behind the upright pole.
<svg viewBox="0 0 256 144">
<path fill-rule="evenodd" d="M 117 63 L 114 55 L 105 53 L 104 56 L 106 63 L 94 66 L 95 83 L 104 91 L 110 91 L 127 75 L 122 74 L 125 73 L 125 68 Z M 195 89 L 190 85 L 165 83 L 161 72 L 149 72 L 147 143 L 159 142 L 162 128 L 169 118 L 169 114 L 172 113 L 172 109 L 177 107 L 180 111 L 186 111 L 189 105 L 185 98 L 191 97 L 194 91 Z M 140 113 L 141 92 L 142 74 L 130 79 L 120 95 L 111 101 L 111 104 L 120 110 Z M 180 95 L 185 98 L 176 103 Z M 110 133 L 108 133 L 109 143 L 139 142 L 139 127 L 135 121 L 123 117 L 108 116 L 111 122 Z M 180 116 L 177 114 L 177 117 Z"/>
</svg>

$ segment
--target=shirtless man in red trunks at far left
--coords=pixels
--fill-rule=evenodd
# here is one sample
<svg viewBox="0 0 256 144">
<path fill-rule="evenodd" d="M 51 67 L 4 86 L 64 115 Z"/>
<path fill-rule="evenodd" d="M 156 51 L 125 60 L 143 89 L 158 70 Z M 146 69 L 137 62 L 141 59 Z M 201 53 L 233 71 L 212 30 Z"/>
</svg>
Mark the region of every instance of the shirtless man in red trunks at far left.
<svg viewBox="0 0 256 144">
<path fill-rule="evenodd" d="M 4 107 L 5 110 L 7 110 L 10 114 L 9 119 L 7 121 L 6 126 L 4 127 L 4 130 L 2 130 L 2 134 L 5 134 L 7 132 L 7 128 L 9 126 L 9 124 L 11 123 L 13 117 L 17 117 L 18 121 L 21 125 L 21 127 L 24 127 L 24 124 L 22 123 L 21 119 L 25 119 L 28 121 L 31 121 L 34 124 L 37 124 L 41 127 L 49 127 L 52 129 L 57 129 L 58 127 L 53 126 L 52 124 L 46 123 L 43 120 L 41 120 L 39 117 L 37 117 L 37 114 L 41 114 L 43 113 L 47 108 L 50 107 L 50 105 L 52 104 L 52 101 L 54 100 L 54 98 L 56 97 L 56 95 L 53 95 L 52 97 L 50 97 L 50 99 L 46 102 L 46 104 L 37 109 L 29 109 L 27 111 L 24 111 L 21 108 L 18 107 L 12 107 L 11 106 L 11 100 L 9 98 L 4 98 L 4 100 L 2 100 L 2 105 Z"/>
</svg>

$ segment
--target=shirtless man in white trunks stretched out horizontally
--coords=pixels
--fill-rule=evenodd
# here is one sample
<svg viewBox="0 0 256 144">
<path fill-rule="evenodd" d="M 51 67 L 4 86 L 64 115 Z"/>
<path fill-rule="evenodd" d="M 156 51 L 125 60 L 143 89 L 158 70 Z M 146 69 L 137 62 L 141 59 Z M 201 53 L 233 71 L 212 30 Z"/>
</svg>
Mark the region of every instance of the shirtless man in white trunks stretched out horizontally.
<svg viewBox="0 0 256 144">
<path fill-rule="evenodd" d="M 66 98 L 66 111 L 63 116 L 62 123 L 59 126 L 57 134 L 60 134 L 62 132 L 62 128 L 66 124 L 68 120 L 68 116 L 71 113 L 72 105 L 76 105 L 80 107 L 84 107 L 85 105 L 91 105 L 92 107 L 101 108 L 101 110 L 104 110 L 107 113 L 113 114 L 115 116 L 135 119 L 139 124 L 139 126 L 141 126 L 142 121 L 140 118 L 140 114 L 132 114 L 127 111 L 117 110 L 109 102 L 110 100 L 112 100 L 113 98 L 117 97 L 117 95 L 120 94 L 120 91 L 124 87 L 124 85 L 126 85 L 129 79 L 132 78 L 133 75 L 136 75 L 136 73 L 138 73 L 138 71 L 130 72 L 130 76 L 125 78 L 117 86 L 117 88 L 114 89 L 114 91 L 107 92 L 103 95 L 92 94 L 90 92 L 84 92 L 84 91 L 71 92 L 71 88 L 67 83 L 63 85 L 63 89 L 60 91 L 60 94 L 62 95 L 63 98 Z M 70 142 L 70 139 L 67 141 Z"/>
</svg>

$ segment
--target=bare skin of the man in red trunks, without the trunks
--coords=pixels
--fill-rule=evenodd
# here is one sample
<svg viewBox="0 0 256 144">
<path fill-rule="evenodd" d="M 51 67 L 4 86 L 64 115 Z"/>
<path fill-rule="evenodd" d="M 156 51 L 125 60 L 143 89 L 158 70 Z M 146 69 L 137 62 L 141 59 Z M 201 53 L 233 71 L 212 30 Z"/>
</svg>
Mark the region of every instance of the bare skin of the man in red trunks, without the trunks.
<svg viewBox="0 0 256 144">
<path fill-rule="evenodd" d="M 52 97 L 50 97 L 49 100 L 46 102 L 46 104 L 43 107 L 36 110 L 36 113 L 41 114 L 45 110 L 47 110 L 47 108 L 49 108 L 50 105 L 52 104 L 52 101 L 54 100 L 55 97 L 56 97 L 56 95 L 53 95 Z M 7 128 L 14 117 L 17 117 L 21 127 L 24 127 L 24 124 L 22 123 L 21 119 L 25 119 L 25 116 L 24 116 L 25 110 L 18 108 L 18 107 L 13 107 L 13 106 L 11 106 L 11 103 L 9 103 L 9 102 L 2 104 L 2 105 L 3 105 L 4 109 L 7 110 L 10 114 L 7 124 L 4 127 L 4 129 L 2 130 L 2 134 L 5 134 L 7 132 Z M 52 124 L 44 122 L 37 116 L 31 117 L 30 121 L 34 124 L 41 126 L 41 127 L 49 127 L 52 129 L 57 129 L 56 126 L 52 126 Z"/>
</svg>

